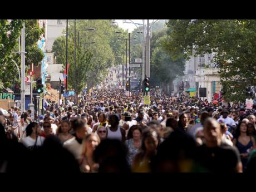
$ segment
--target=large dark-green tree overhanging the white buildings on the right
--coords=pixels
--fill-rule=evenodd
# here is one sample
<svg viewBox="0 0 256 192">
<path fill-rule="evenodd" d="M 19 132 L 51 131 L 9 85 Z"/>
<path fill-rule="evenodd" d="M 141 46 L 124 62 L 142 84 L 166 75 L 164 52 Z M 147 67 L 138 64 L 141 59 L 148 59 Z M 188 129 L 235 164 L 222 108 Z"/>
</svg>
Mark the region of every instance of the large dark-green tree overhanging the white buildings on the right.
<svg viewBox="0 0 256 192">
<path fill-rule="evenodd" d="M 166 50 L 173 58 L 214 53 L 227 101 L 244 101 L 245 87 L 255 85 L 256 21 L 238 19 L 169 20 Z"/>
</svg>

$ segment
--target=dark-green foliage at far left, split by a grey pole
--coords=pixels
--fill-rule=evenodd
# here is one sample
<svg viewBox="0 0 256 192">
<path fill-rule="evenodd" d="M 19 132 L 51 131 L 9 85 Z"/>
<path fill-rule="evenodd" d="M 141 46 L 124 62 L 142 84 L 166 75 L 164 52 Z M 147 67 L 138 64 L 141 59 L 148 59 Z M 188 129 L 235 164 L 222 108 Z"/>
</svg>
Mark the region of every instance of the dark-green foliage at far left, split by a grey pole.
<svg viewBox="0 0 256 192">
<path fill-rule="evenodd" d="M 26 65 L 38 64 L 43 59 L 43 52 L 37 48 L 37 41 L 42 30 L 37 26 L 37 20 L 14 19 L 8 22 L 0 20 L 0 80 L 3 87 L 10 87 L 18 80 L 18 70 L 14 62 L 21 68 L 21 55 L 12 52 L 19 51 L 18 37 L 21 35 L 22 22 L 25 22 Z M 9 35 L 7 35 L 9 33 Z M 0 88 L 1 90 L 1 88 Z"/>
</svg>

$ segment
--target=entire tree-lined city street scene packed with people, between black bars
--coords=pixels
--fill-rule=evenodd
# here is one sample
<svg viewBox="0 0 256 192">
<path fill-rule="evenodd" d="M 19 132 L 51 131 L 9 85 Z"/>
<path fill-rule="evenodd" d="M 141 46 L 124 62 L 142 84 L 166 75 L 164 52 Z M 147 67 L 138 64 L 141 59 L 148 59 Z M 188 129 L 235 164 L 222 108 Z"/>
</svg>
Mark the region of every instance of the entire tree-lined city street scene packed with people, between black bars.
<svg viewBox="0 0 256 192">
<path fill-rule="evenodd" d="M 0 22 L 1 172 L 255 173 L 255 20 Z"/>
</svg>

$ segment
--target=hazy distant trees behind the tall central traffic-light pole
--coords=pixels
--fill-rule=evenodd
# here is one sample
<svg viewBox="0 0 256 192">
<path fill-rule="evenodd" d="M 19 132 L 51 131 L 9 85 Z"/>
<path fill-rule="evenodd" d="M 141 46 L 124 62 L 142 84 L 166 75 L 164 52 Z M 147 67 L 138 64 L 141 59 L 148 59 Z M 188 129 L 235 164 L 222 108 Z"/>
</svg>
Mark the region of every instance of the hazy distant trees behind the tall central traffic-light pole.
<svg viewBox="0 0 256 192">
<path fill-rule="evenodd" d="M 143 31 L 143 27 L 139 29 Z M 137 32 L 137 28 L 133 32 Z M 167 92 L 168 86 L 172 85 L 175 78 L 183 75 L 185 69 L 184 55 L 176 58 L 171 58 L 169 50 L 165 48 L 167 28 L 165 21 L 157 21 L 152 26 L 152 38 L 150 41 L 150 85 L 161 86 L 164 92 Z M 142 37 L 140 34 L 132 34 L 131 38 L 136 40 L 131 41 L 131 61 L 134 58 L 142 58 Z"/>
</svg>

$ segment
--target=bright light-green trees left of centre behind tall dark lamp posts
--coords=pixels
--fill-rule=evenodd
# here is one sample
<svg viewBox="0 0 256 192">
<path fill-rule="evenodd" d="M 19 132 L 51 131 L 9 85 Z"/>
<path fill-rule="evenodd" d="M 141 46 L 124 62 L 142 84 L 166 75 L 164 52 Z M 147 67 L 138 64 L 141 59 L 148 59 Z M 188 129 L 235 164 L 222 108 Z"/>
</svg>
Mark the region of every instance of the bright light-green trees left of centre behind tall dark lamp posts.
<svg viewBox="0 0 256 192">
<path fill-rule="evenodd" d="M 70 69 L 68 71 L 68 85 L 73 88 L 73 56 L 74 56 L 74 21 L 68 20 L 68 62 Z M 118 37 L 124 38 L 124 34 L 116 34 L 116 31 L 124 32 L 123 29 L 114 28 L 112 20 L 76 20 L 76 42 L 79 45 L 76 53 L 77 73 L 85 76 L 77 78 L 81 81 L 81 87 L 87 85 L 88 89 L 96 83 L 105 80 L 109 68 L 114 65 L 124 63 L 125 41 L 118 40 Z M 88 28 L 95 28 L 95 31 L 88 31 Z M 90 42 L 96 42 L 90 44 Z M 66 37 L 59 37 L 53 43 L 52 51 L 56 56 L 58 63 L 66 63 Z M 79 53 L 80 51 L 80 53 Z M 85 53 L 85 57 L 82 54 Z M 90 54 L 89 54 L 90 53 Z M 93 53 L 93 54 L 92 54 Z M 78 60 L 81 67 L 78 67 Z M 85 66 L 82 66 L 83 65 Z M 85 73 L 81 71 L 85 70 Z M 77 87 L 78 88 L 78 87 Z"/>
</svg>

